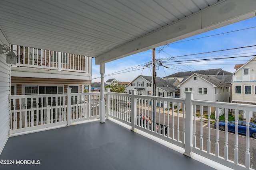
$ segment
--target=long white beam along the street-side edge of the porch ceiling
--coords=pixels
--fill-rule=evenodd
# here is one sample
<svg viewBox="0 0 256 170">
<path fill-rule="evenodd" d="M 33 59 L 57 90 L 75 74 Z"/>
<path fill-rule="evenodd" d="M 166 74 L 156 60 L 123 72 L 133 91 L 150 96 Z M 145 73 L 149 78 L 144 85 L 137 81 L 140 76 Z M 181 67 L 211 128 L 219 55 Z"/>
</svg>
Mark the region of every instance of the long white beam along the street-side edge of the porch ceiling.
<svg viewBox="0 0 256 170">
<path fill-rule="evenodd" d="M 107 63 L 256 16 L 255 0 L 226 0 L 95 58 Z"/>
</svg>

